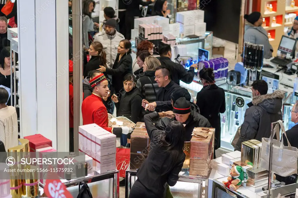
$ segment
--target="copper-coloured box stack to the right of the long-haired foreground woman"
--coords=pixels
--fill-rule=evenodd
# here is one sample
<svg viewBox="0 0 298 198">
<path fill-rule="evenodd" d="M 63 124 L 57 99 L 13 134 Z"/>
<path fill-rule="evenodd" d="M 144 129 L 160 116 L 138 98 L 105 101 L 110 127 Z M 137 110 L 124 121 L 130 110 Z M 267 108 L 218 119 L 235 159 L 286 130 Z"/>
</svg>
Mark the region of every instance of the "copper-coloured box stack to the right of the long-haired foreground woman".
<svg viewBox="0 0 298 198">
<path fill-rule="evenodd" d="M 190 175 L 208 178 L 214 151 L 214 128 L 194 128 L 207 135 L 206 138 L 193 136 L 190 140 Z"/>
</svg>

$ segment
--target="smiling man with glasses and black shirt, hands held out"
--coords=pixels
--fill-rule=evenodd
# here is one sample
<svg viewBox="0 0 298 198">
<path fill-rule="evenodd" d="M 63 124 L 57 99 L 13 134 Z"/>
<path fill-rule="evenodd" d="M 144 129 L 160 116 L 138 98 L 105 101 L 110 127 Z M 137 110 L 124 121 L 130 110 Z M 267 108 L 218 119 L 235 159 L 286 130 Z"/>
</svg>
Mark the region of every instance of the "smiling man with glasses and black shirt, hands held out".
<svg viewBox="0 0 298 198">
<path fill-rule="evenodd" d="M 142 101 L 142 106 L 145 110 L 149 111 L 170 111 L 173 109 L 171 94 L 172 92 L 179 88 L 180 86 L 171 80 L 171 73 L 167 66 L 160 65 L 156 68 L 155 71 L 155 81 L 158 84 L 158 87 L 162 87 L 157 92 L 157 101 L 149 103 L 147 100 Z M 147 107 L 146 107 L 146 104 Z"/>
</svg>

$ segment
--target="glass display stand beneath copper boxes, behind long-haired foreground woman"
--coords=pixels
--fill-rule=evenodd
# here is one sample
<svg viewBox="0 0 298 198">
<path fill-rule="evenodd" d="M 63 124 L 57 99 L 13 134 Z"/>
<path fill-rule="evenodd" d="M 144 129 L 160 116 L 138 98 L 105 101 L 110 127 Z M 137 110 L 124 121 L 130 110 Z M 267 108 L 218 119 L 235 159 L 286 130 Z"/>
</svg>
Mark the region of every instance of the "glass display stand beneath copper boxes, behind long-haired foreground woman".
<svg viewBox="0 0 298 198">
<path fill-rule="evenodd" d="M 137 171 L 136 169 L 128 169 L 125 173 L 125 198 L 129 197 L 129 192 L 131 187 L 136 181 Z M 210 173 L 212 175 L 212 172 Z M 175 186 L 170 186 L 170 190 L 173 197 L 176 195 L 183 197 L 198 197 L 207 198 L 208 197 L 208 178 L 201 178 L 196 176 L 190 176 L 189 171 L 181 171 L 179 173 L 179 179 Z"/>
</svg>

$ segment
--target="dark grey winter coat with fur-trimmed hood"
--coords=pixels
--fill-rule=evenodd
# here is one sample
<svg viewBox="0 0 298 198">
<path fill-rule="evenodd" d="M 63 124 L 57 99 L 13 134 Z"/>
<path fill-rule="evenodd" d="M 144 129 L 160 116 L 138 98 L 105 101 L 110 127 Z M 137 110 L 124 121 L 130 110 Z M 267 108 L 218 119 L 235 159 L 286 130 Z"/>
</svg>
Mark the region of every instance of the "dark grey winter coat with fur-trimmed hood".
<svg viewBox="0 0 298 198">
<path fill-rule="evenodd" d="M 272 94 L 256 96 L 252 99 L 252 106 L 246 109 L 244 121 L 240 130 L 236 150 L 241 151 L 241 143 L 256 139 L 269 138 L 271 135 L 271 122 L 282 120 L 281 108 L 284 94 L 277 90 Z"/>
</svg>

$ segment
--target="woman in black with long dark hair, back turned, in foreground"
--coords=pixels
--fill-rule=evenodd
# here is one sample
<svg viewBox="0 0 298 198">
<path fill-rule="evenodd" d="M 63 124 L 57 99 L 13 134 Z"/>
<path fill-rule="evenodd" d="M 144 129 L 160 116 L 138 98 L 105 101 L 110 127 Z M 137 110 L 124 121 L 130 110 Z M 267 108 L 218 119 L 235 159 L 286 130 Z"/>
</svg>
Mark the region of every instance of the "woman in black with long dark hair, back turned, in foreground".
<svg viewBox="0 0 298 198">
<path fill-rule="evenodd" d="M 137 173 L 138 179 L 132 186 L 129 198 L 164 197 L 167 185 L 174 186 L 185 160 L 184 126 L 177 121 L 170 122 L 165 130 L 158 130 L 153 120 L 159 117 L 172 118 L 171 111 L 144 116 L 150 138 L 150 152 Z"/>
</svg>

